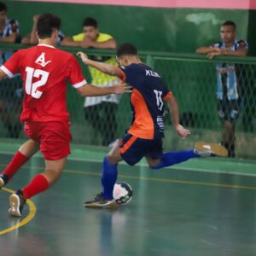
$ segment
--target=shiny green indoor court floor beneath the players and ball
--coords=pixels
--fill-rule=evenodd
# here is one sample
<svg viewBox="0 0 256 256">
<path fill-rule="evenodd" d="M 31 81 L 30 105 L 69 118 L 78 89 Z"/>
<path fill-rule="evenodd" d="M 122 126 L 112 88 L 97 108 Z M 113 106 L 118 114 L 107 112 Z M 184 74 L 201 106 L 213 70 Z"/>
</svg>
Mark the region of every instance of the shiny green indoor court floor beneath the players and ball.
<svg viewBox="0 0 256 256">
<path fill-rule="evenodd" d="M 83 202 L 101 189 L 104 150 L 89 151 L 94 160 L 71 157 L 60 181 L 28 201 L 21 219 L 9 217 L 9 195 L 44 169 L 41 156 L 0 191 L 1 256 L 256 255 L 255 162 L 200 159 L 158 171 L 121 164 L 131 203 L 96 210 Z M 10 158 L 0 154 L 0 170 Z"/>
</svg>

